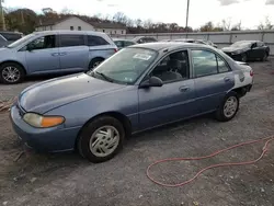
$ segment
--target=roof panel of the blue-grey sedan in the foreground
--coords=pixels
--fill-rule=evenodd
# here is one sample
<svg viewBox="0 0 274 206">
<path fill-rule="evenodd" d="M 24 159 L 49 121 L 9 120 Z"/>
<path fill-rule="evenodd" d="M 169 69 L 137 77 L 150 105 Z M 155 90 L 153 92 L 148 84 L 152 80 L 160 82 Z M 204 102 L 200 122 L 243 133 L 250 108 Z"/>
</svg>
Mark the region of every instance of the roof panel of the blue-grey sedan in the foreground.
<svg viewBox="0 0 274 206">
<path fill-rule="evenodd" d="M 163 50 L 163 49 L 178 49 L 178 48 L 195 48 L 195 47 L 204 47 L 209 48 L 207 45 L 193 44 L 193 43 L 182 43 L 182 42 L 157 42 L 157 43 L 146 43 L 146 44 L 137 44 L 129 46 L 130 48 L 148 48 L 152 50 Z M 210 47 L 212 48 L 212 47 Z"/>
</svg>

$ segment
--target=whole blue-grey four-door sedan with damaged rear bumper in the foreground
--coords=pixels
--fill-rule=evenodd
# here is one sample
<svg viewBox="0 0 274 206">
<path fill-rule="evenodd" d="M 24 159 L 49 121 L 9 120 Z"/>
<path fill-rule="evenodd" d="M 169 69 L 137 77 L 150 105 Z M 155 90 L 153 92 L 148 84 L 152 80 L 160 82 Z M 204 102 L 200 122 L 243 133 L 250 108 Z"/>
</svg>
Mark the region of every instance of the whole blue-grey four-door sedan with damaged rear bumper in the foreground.
<svg viewBox="0 0 274 206">
<path fill-rule="evenodd" d="M 25 89 L 11 107 L 11 121 L 38 151 L 78 149 L 103 162 L 130 134 L 206 113 L 230 121 L 252 82 L 251 67 L 209 46 L 134 45 L 92 71 Z"/>
</svg>

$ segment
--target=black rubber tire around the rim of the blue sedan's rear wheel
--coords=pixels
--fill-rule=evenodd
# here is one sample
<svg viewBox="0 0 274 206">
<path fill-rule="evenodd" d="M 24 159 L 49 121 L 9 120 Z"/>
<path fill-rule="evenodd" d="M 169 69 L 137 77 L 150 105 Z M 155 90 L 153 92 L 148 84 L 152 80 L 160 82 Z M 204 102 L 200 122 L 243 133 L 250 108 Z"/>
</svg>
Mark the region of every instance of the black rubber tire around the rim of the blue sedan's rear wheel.
<svg viewBox="0 0 274 206">
<path fill-rule="evenodd" d="M 231 99 L 237 100 L 237 107 L 236 107 L 235 113 L 231 116 L 228 116 L 225 114 L 225 105 L 226 105 L 227 101 L 231 100 Z M 240 99 L 239 99 L 238 94 L 236 92 L 229 92 L 225 96 L 225 99 L 222 100 L 218 110 L 215 113 L 216 119 L 219 122 L 228 122 L 228 121 L 232 119 L 236 116 L 237 112 L 239 111 L 239 105 L 240 105 Z"/>
</svg>

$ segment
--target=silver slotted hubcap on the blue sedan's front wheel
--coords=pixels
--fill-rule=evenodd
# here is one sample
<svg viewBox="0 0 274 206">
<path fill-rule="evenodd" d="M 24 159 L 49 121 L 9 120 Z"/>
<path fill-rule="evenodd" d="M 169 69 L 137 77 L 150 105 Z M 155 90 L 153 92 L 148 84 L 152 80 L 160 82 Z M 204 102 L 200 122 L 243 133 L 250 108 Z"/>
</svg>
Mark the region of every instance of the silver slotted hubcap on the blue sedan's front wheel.
<svg viewBox="0 0 274 206">
<path fill-rule="evenodd" d="M 119 133 L 113 126 L 96 129 L 90 139 L 90 151 L 96 157 L 111 154 L 119 144 Z"/>
</svg>

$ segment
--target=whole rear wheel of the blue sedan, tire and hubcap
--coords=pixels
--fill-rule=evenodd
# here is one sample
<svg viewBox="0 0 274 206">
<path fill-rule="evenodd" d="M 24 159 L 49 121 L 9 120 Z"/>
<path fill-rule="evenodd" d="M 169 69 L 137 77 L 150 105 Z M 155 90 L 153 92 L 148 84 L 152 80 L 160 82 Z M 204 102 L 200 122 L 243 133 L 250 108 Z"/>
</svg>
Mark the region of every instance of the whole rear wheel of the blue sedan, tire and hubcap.
<svg viewBox="0 0 274 206">
<path fill-rule="evenodd" d="M 216 118 L 220 122 L 232 119 L 239 110 L 239 104 L 238 94 L 236 92 L 228 93 L 216 111 Z"/>
</svg>

